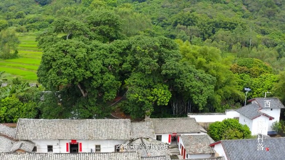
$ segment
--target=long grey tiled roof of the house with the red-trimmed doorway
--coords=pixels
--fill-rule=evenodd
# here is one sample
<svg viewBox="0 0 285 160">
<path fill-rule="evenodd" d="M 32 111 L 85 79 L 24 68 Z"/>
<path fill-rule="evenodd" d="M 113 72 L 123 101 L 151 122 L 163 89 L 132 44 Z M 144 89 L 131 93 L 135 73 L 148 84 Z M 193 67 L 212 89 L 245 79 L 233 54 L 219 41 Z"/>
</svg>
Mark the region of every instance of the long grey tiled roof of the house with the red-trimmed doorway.
<svg viewBox="0 0 285 160">
<path fill-rule="evenodd" d="M 16 138 L 40 139 L 130 139 L 130 119 L 19 119 Z"/>
</svg>

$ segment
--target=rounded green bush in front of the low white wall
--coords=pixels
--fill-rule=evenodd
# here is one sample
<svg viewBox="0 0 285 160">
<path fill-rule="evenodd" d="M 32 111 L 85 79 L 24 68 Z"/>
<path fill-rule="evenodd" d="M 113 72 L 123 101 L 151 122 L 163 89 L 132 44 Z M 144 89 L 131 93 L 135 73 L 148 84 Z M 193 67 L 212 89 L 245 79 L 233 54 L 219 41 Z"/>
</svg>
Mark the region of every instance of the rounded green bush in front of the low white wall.
<svg viewBox="0 0 285 160">
<path fill-rule="evenodd" d="M 221 139 L 246 139 L 251 137 L 247 125 L 242 125 L 237 119 L 224 119 L 209 125 L 208 134 L 215 140 Z"/>
</svg>

